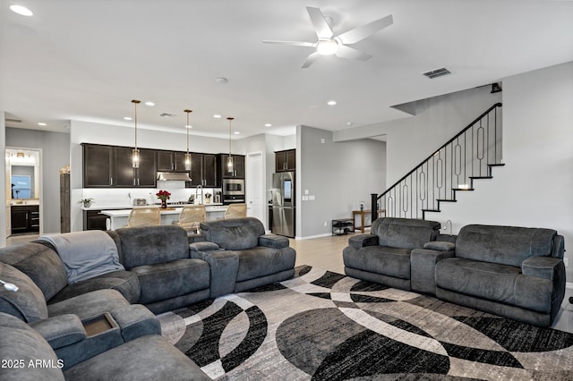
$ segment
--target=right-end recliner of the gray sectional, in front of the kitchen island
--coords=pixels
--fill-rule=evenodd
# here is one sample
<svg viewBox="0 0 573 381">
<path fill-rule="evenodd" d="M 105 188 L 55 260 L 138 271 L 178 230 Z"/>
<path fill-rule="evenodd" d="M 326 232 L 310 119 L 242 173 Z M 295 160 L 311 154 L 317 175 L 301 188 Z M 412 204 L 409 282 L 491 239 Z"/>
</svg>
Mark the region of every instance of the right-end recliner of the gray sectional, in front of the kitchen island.
<svg viewBox="0 0 573 381">
<path fill-rule="evenodd" d="M 284 281 L 295 275 L 296 252 L 286 237 L 265 234 L 252 217 L 202 222 L 206 241 L 189 245 L 210 264 L 211 298 Z"/>
</svg>

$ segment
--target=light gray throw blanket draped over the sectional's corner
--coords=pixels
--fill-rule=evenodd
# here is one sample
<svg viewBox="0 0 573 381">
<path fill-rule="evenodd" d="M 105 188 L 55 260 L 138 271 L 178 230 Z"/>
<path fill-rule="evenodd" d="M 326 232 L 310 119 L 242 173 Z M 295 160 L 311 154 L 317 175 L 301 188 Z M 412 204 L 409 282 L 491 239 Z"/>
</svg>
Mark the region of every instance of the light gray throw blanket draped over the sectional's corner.
<svg viewBox="0 0 573 381">
<path fill-rule="evenodd" d="M 125 270 L 119 262 L 114 240 L 103 231 L 44 235 L 40 240 L 48 241 L 56 248 L 64 262 L 68 284 Z"/>
</svg>

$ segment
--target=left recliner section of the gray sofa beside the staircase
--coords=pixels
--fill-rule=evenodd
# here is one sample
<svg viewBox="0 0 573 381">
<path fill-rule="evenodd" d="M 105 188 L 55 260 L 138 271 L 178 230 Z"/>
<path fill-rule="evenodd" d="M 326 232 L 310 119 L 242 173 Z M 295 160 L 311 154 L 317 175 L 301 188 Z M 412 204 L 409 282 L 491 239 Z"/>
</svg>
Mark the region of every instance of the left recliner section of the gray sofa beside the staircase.
<svg viewBox="0 0 573 381">
<path fill-rule="evenodd" d="M 346 275 L 365 281 L 410 290 L 412 250 L 435 241 L 440 223 L 409 218 L 378 218 L 371 233 L 348 239 L 343 250 Z"/>
</svg>

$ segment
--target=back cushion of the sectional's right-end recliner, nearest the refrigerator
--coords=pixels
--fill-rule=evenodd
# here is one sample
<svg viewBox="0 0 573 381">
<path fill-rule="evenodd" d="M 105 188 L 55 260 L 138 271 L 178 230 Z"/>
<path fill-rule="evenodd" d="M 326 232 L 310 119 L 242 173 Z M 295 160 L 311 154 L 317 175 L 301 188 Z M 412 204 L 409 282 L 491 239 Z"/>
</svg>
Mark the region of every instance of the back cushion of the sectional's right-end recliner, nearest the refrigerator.
<svg viewBox="0 0 573 381">
<path fill-rule="evenodd" d="M 259 246 L 259 236 L 265 233 L 261 221 L 253 217 L 201 223 L 201 233 L 207 241 L 215 242 L 226 250 L 245 250 Z"/>
</svg>

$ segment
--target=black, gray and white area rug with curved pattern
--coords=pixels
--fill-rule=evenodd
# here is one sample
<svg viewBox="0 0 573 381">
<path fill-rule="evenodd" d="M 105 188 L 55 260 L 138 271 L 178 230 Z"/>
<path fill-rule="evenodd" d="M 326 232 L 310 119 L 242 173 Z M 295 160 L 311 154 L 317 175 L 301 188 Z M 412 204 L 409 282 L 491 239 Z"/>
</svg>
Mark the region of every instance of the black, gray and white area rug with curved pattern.
<svg viewBox="0 0 573 381">
<path fill-rule="evenodd" d="M 573 334 L 315 267 L 158 318 L 214 379 L 573 379 Z"/>
</svg>

